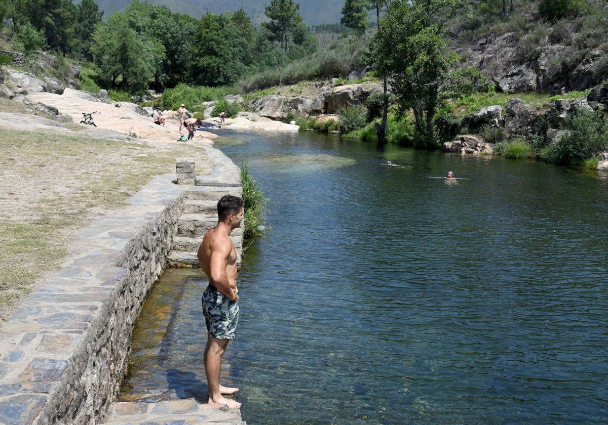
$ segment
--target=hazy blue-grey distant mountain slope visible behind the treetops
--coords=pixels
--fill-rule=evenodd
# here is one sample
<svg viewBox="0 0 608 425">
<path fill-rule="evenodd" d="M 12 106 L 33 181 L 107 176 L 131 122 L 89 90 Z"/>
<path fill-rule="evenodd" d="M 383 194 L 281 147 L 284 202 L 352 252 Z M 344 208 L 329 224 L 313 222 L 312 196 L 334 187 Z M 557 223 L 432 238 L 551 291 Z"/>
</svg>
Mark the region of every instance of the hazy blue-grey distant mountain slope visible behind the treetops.
<svg viewBox="0 0 608 425">
<path fill-rule="evenodd" d="M 123 10 L 131 0 L 98 0 L 100 10 L 106 18 L 116 10 Z M 243 9 L 250 16 L 254 25 L 268 21 L 264 8 L 270 0 L 147 0 L 150 4 L 167 6 L 171 12 L 184 13 L 199 19 L 207 13 L 224 13 Z M 342 17 L 344 0 L 306 0 L 295 1 L 300 5 L 300 15 L 308 25 L 337 24 Z"/>
</svg>

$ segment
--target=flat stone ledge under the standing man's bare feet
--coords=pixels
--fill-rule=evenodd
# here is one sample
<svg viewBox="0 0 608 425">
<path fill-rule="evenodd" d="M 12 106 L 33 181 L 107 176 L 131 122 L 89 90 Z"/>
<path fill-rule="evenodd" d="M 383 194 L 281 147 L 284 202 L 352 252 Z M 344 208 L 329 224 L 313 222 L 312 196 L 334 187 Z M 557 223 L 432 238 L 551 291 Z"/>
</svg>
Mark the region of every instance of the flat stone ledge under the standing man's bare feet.
<svg viewBox="0 0 608 425">
<path fill-rule="evenodd" d="M 213 424 L 246 425 L 238 409 L 213 407 L 197 403 L 193 399 L 167 400 L 157 403 L 126 401 L 116 403 L 109 412 L 106 425 L 165 425 L 165 424 Z"/>
</svg>

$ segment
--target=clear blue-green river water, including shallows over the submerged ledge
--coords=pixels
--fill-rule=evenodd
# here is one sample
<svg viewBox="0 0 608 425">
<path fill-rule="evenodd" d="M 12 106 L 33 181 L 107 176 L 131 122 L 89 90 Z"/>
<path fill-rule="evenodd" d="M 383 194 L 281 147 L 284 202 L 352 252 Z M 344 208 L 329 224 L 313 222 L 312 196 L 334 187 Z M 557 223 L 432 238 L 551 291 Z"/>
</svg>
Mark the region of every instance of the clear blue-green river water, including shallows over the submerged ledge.
<svg viewBox="0 0 608 425">
<path fill-rule="evenodd" d="M 224 356 L 249 425 L 608 423 L 606 175 L 221 135 L 269 199 Z M 463 180 L 430 178 L 450 170 Z M 199 270 L 164 273 L 124 400 L 206 401 L 205 286 Z"/>
</svg>

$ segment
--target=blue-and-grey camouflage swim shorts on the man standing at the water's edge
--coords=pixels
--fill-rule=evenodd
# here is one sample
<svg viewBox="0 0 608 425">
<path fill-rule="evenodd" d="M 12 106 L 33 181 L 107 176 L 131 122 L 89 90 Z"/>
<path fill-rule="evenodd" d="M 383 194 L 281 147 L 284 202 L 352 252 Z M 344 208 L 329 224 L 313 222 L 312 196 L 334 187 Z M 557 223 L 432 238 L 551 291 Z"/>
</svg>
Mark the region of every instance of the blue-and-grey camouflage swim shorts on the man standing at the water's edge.
<svg viewBox="0 0 608 425">
<path fill-rule="evenodd" d="M 233 339 L 238 322 L 238 303 L 218 290 L 207 287 L 202 293 L 202 313 L 212 338 Z"/>
</svg>

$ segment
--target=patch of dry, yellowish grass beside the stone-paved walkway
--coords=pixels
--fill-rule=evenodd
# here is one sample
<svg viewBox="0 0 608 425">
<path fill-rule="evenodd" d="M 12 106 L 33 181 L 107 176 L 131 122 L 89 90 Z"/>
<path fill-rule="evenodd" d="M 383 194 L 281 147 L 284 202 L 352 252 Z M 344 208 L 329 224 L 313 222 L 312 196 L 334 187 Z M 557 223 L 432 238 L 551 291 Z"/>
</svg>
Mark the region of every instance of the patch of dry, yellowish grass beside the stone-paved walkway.
<svg viewBox="0 0 608 425">
<path fill-rule="evenodd" d="M 78 230 L 125 205 L 154 176 L 174 173 L 176 158 L 195 158 L 198 174 L 212 169 L 192 144 L 49 132 L 2 130 L 0 152 L 0 321 L 57 270 Z"/>
</svg>

